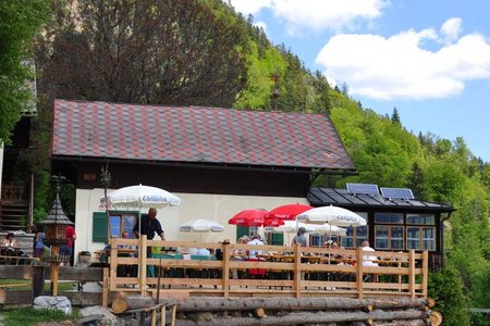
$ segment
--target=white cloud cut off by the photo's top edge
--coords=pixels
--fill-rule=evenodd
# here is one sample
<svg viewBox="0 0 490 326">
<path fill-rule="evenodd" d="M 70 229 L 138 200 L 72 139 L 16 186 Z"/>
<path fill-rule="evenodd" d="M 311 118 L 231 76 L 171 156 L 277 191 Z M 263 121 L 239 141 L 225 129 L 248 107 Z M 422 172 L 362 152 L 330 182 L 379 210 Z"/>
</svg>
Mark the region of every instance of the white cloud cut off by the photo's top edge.
<svg viewBox="0 0 490 326">
<path fill-rule="evenodd" d="M 358 20 L 372 20 L 381 15 L 389 0 L 231 0 L 244 15 L 270 9 L 286 25 L 290 35 L 305 30 L 348 28 Z"/>
</svg>

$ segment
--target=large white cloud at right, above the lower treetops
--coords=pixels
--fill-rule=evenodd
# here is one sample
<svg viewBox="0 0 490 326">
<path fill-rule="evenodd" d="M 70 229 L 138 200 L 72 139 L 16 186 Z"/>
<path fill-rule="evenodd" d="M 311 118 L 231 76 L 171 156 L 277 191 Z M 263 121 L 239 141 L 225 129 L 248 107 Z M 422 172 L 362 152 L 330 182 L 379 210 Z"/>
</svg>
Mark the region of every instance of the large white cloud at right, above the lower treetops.
<svg viewBox="0 0 490 326">
<path fill-rule="evenodd" d="M 490 45 L 482 36 L 466 35 L 436 50 L 422 47 L 440 37 L 433 29 L 389 38 L 338 35 L 316 61 L 330 79 L 345 82 L 351 95 L 378 100 L 451 97 L 463 91 L 465 82 L 490 77 Z"/>
</svg>

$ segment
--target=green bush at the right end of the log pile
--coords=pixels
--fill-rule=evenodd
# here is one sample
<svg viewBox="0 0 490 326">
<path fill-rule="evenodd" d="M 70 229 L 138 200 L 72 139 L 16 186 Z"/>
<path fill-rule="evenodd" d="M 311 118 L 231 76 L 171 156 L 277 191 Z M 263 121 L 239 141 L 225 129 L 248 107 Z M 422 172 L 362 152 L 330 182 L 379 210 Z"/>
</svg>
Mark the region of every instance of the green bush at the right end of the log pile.
<svg viewBox="0 0 490 326">
<path fill-rule="evenodd" d="M 436 300 L 434 310 L 443 317 L 445 326 L 470 325 L 468 299 L 464 296 L 460 275 L 452 267 L 429 273 L 428 296 Z"/>
</svg>

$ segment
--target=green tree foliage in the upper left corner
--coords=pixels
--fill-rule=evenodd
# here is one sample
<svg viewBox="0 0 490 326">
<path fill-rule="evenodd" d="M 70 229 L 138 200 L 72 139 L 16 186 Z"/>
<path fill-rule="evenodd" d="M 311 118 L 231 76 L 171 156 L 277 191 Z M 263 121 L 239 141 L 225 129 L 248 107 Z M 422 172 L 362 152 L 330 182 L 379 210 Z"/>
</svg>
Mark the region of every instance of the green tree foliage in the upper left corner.
<svg viewBox="0 0 490 326">
<path fill-rule="evenodd" d="M 23 62 L 32 58 L 33 38 L 47 16 L 48 0 L 0 1 L 0 140 L 5 143 L 33 100 L 26 87 L 33 75 Z"/>
</svg>

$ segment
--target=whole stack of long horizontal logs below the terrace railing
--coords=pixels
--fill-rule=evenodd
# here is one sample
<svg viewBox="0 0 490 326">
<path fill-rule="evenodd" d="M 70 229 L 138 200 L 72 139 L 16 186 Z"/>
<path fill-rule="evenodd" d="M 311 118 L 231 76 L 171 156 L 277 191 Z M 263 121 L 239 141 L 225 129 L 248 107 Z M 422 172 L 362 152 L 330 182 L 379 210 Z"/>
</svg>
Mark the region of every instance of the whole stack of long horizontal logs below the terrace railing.
<svg viewBox="0 0 490 326">
<path fill-rule="evenodd" d="M 191 325 L 430 325 L 425 299 L 210 298 L 160 299 L 177 305 L 177 323 Z M 431 302 L 432 303 L 432 302 Z"/>
</svg>

